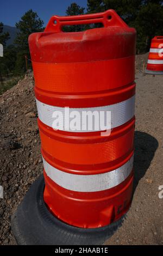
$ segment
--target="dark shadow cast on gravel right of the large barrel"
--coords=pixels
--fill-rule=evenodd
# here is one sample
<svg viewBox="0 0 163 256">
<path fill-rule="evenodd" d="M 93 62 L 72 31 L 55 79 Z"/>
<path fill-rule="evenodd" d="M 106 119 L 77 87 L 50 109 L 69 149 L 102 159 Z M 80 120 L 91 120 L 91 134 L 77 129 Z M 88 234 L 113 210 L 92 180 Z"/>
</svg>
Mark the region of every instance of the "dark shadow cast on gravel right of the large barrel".
<svg viewBox="0 0 163 256">
<path fill-rule="evenodd" d="M 135 155 L 134 155 L 134 188 L 145 175 L 158 148 L 158 141 L 146 132 L 135 131 Z"/>
</svg>

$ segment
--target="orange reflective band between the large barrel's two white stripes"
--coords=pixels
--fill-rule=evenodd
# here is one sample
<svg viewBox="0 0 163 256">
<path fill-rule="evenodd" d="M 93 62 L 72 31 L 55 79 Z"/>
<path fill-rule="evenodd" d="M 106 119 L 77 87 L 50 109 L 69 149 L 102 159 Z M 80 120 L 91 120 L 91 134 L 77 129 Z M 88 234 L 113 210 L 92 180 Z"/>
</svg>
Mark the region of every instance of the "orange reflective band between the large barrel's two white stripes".
<svg viewBox="0 0 163 256">
<path fill-rule="evenodd" d="M 43 127 L 41 127 L 43 128 Z M 134 126 L 123 136 L 100 143 L 67 143 L 40 130 L 42 148 L 49 155 L 71 164 L 99 164 L 114 161 L 134 148 Z"/>
</svg>

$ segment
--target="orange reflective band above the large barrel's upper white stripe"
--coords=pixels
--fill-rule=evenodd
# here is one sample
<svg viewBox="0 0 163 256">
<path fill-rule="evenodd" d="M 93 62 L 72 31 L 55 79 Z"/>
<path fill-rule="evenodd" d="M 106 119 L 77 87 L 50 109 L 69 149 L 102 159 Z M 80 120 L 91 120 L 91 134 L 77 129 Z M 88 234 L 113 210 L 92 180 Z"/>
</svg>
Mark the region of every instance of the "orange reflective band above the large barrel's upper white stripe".
<svg viewBox="0 0 163 256">
<path fill-rule="evenodd" d="M 33 62 L 35 86 L 58 93 L 115 89 L 134 81 L 134 60 L 135 56 L 83 63 Z"/>
</svg>

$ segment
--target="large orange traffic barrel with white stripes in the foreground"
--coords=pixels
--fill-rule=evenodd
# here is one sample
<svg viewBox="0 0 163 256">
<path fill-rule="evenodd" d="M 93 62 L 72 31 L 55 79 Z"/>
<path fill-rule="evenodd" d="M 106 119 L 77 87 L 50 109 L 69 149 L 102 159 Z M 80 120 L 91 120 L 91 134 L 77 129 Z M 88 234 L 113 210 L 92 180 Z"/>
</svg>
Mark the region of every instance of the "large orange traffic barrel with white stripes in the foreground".
<svg viewBox="0 0 163 256">
<path fill-rule="evenodd" d="M 62 31 L 99 22 L 102 28 Z M 38 181 L 33 193 L 39 190 L 44 214 L 55 220 L 48 219 L 47 227 L 44 220 L 48 238 L 49 225 L 55 229 L 58 221 L 68 234 L 73 227 L 93 239 L 102 230 L 106 236 L 130 208 L 135 38 L 135 29 L 114 10 L 53 16 L 44 32 L 29 36 L 45 180 L 45 187 Z M 40 211 L 36 222 L 45 216 Z M 36 228 L 33 232 L 36 236 Z"/>
</svg>

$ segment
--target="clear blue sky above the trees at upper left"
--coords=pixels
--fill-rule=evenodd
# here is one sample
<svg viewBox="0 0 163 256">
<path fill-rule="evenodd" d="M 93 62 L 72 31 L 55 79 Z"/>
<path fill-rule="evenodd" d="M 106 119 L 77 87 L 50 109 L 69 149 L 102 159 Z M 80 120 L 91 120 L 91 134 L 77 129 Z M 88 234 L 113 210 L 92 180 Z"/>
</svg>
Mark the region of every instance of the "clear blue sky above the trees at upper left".
<svg viewBox="0 0 163 256">
<path fill-rule="evenodd" d="M 76 2 L 86 7 L 87 0 L 2 0 L 0 4 L 0 22 L 15 27 L 27 10 L 33 9 L 45 22 L 53 15 L 65 15 L 65 11 L 71 3 Z"/>
</svg>

